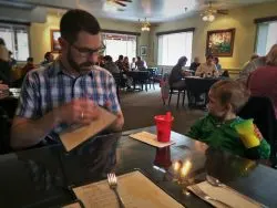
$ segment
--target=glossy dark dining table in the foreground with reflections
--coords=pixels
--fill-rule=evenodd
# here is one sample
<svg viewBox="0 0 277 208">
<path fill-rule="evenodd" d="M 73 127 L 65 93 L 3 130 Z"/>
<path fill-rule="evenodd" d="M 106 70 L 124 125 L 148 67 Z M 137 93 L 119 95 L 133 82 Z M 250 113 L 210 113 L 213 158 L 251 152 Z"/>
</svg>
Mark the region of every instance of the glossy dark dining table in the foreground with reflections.
<svg viewBox="0 0 277 208">
<path fill-rule="evenodd" d="M 267 207 L 277 207 L 275 169 L 176 132 L 171 134 L 174 144 L 164 148 L 130 137 L 143 131 L 156 134 L 156 127 L 150 126 L 98 135 L 71 152 L 57 144 L 1 155 L 0 207 L 66 206 L 78 200 L 72 187 L 106 179 L 109 173 L 121 176 L 134 170 L 184 207 L 212 207 L 187 191 L 187 186 L 204 181 L 206 175 Z M 192 164 L 182 180 L 170 175 L 175 162 Z"/>
</svg>

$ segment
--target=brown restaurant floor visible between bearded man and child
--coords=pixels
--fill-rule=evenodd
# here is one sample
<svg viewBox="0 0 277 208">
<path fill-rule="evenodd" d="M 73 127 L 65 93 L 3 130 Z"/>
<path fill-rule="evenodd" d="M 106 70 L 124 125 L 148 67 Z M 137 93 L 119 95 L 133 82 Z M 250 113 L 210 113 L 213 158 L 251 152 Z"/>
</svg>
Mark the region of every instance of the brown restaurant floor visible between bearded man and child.
<svg viewBox="0 0 277 208">
<path fill-rule="evenodd" d="M 125 117 L 124 131 L 154 125 L 154 116 L 171 111 L 174 116 L 173 131 L 185 134 L 196 119 L 205 115 L 198 110 L 188 110 L 187 101 L 185 108 L 176 110 L 177 96 L 173 95 L 171 106 L 163 105 L 161 89 L 148 92 L 121 92 L 121 106 Z"/>
</svg>

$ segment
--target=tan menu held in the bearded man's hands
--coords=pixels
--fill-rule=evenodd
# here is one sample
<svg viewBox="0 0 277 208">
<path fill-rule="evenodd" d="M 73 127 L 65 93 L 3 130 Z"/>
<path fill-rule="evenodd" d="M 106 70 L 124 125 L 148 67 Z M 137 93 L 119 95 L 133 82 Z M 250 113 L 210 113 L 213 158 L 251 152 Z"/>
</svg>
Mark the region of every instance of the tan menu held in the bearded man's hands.
<svg viewBox="0 0 277 208">
<path fill-rule="evenodd" d="M 116 119 L 116 116 L 106 110 L 100 107 L 100 117 L 95 121 L 93 121 L 88 126 L 82 126 L 76 129 L 68 129 L 66 132 L 63 132 L 60 134 L 60 139 L 64 146 L 64 148 L 70 152 L 74 147 L 79 146 L 80 144 L 84 143 L 92 136 L 96 135 L 101 131 L 105 129 L 107 126 L 110 126 L 114 121 Z"/>
</svg>

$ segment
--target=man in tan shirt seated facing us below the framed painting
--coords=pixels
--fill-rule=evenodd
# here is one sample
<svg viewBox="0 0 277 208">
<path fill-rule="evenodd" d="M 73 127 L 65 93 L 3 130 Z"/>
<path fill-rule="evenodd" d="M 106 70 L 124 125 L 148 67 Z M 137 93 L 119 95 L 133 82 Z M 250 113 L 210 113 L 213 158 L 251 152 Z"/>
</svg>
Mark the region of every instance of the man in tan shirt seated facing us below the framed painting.
<svg viewBox="0 0 277 208">
<path fill-rule="evenodd" d="M 201 77 L 218 77 L 219 76 L 216 65 L 214 64 L 213 55 L 206 56 L 206 62 L 202 63 L 197 67 L 195 75 L 201 76 Z"/>
</svg>

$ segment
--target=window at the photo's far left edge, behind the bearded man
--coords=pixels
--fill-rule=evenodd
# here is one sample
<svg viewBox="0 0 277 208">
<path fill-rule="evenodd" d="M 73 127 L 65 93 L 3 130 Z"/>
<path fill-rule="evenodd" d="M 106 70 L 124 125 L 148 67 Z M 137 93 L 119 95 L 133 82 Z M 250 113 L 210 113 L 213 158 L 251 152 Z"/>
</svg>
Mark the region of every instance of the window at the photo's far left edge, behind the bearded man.
<svg viewBox="0 0 277 208">
<path fill-rule="evenodd" d="M 4 40 L 7 49 L 18 61 L 25 61 L 30 55 L 28 31 L 29 28 L 25 25 L 0 23 L 0 38 Z"/>
</svg>

